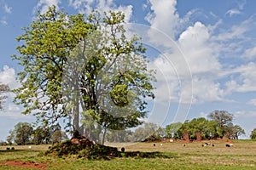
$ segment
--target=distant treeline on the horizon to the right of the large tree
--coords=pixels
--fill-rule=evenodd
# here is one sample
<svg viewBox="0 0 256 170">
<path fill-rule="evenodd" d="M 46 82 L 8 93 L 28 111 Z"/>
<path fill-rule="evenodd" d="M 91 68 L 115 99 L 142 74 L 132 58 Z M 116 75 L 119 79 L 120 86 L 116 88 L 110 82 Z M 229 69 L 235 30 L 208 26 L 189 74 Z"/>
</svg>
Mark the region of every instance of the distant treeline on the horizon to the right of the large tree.
<svg viewBox="0 0 256 170">
<path fill-rule="evenodd" d="M 190 140 L 196 140 L 198 137 L 200 139 L 238 139 L 241 134 L 245 134 L 245 131 L 239 125 L 233 124 L 233 118 L 234 116 L 227 111 L 213 111 L 208 119 L 200 117 L 183 123 L 173 122 L 165 128 L 158 127 L 154 123 L 145 123 L 143 127 L 138 127 L 134 132 L 107 133 L 107 139 L 108 142 L 183 140 L 184 134 L 187 134 Z M 252 139 L 256 139 L 256 129 L 254 131 L 251 134 Z"/>
</svg>

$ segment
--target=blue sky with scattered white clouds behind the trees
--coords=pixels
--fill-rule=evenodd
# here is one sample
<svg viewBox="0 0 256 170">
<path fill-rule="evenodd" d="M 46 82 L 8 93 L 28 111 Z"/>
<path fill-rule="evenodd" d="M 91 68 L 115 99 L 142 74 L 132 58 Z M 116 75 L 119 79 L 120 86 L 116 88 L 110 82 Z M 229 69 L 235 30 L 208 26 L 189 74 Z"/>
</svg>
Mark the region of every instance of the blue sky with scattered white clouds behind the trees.
<svg viewBox="0 0 256 170">
<path fill-rule="evenodd" d="M 22 71 L 12 54 L 22 27 L 51 5 L 68 14 L 122 11 L 127 29 L 142 37 L 148 48 L 148 66 L 157 71 L 156 98 L 149 102 L 146 122 L 165 127 L 228 111 L 248 139 L 256 127 L 256 1 L 253 0 L 0 0 L 0 82 L 20 86 Z M 34 122 L 24 116 L 9 94 L 0 111 L 0 140 L 6 140 L 17 122 Z"/>
</svg>

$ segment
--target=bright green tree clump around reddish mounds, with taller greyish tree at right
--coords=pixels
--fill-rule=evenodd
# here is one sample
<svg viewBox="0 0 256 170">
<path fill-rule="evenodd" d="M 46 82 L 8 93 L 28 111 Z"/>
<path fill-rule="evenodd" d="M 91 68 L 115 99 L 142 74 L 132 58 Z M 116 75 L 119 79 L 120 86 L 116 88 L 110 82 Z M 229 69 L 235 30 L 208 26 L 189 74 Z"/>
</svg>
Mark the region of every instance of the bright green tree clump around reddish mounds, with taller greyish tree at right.
<svg viewBox="0 0 256 170">
<path fill-rule="evenodd" d="M 189 133 L 189 139 L 196 139 L 197 132 L 201 134 L 201 139 L 218 139 L 224 136 L 229 139 L 238 139 L 241 134 L 245 134 L 240 126 L 233 125 L 233 116 L 227 111 L 213 111 L 209 117 L 212 120 L 200 117 L 167 125 L 167 137 L 183 139 L 185 131 Z"/>
</svg>

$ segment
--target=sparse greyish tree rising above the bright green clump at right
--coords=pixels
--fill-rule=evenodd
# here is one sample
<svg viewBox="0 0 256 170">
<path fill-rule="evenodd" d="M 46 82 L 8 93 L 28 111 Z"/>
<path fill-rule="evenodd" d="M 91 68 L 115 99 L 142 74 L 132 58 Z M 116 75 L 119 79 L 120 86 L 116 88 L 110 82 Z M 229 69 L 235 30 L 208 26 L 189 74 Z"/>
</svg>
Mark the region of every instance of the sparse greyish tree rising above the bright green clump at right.
<svg viewBox="0 0 256 170">
<path fill-rule="evenodd" d="M 232 126 L 233 115 L 228 111 L 213 111 L 209 118 L 217 122 L 217 133 L 220 138 L 223 138 L 227 133 L 227 127 Z"/>
</svg>

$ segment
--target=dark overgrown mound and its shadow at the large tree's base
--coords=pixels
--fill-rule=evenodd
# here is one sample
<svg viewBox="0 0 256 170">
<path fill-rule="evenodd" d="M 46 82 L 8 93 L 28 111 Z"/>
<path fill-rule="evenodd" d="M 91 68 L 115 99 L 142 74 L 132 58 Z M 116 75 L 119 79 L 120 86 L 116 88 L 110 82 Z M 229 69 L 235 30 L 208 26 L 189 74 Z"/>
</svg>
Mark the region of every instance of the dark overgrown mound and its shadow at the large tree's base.
<svg viewBox="0 0 256 170">
<path fill-rule="evenodd" d="M 77 141 L 77 139 L 76 139 Z M 78 157 L 89 160 L 111 160 L 115 157 L 134 157 L 134 158 L 173 158 L 171 154 L 162 152 L 141 152 L 141 151 L 119 151 L 115 147 L 101 144 L 92 144 L 88 139 L 81 139 L 73 143 L 66 140 L 60 144 L 55 144 L 39 156 L 58 156 L 58 157 Z"/>
</svg>

